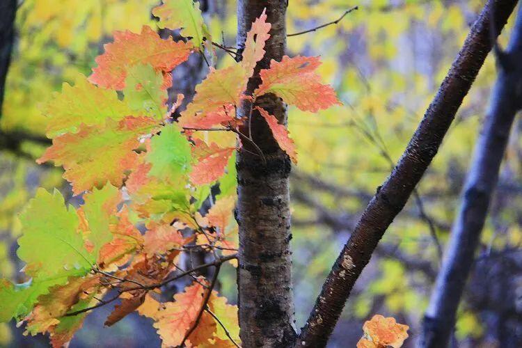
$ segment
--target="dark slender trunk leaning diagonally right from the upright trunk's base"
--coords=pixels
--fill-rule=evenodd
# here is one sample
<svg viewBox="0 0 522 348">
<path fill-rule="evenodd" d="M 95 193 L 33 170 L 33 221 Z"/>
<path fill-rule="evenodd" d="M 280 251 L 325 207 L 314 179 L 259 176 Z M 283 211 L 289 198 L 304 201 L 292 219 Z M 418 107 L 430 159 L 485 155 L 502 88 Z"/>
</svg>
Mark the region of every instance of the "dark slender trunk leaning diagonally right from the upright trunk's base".
<svg viewBox="0 0 522 348">
<path fill-rule="evenodd" d="M 491 50 L 490 19 L 502 29 L 516 0 L 489 0 L 468 33 L 432 104 L 390 176 L 377 188 L 333 264 L 296 347 L 325 347 L 354 283 L 386 228 L 402 210 L 441 145 L 457 109 Z M 492 11 L 492 7 L 495 10 Z"/>
</svg>

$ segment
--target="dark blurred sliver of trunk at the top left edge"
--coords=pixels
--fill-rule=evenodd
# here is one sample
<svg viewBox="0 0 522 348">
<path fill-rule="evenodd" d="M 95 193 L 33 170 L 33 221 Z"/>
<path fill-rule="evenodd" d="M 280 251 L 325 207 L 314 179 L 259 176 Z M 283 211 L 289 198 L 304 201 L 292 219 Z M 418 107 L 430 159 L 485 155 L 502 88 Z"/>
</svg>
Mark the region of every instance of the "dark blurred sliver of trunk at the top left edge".
<svg viewBox="0 0 522 348">
<path fill-rule="evenodd" d="M 16 8 L 16 0 L 0 1 L 0 118 L 2 116 L 7 71 L 15 42 Z"/>
</svg>

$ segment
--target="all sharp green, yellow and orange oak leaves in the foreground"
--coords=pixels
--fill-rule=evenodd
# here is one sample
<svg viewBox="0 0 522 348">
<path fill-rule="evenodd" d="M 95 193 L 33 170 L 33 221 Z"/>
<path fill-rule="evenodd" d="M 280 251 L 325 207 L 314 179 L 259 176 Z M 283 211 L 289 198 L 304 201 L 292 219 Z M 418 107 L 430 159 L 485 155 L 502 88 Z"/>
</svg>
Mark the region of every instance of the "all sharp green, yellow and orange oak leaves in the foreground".
<svg viewBox="0 0 522 348">
<path fill-rule="evenodd" d="M 171 70 L 191 54 L 212 54 L 212 38 L 191 0 L 166 0 L 152 13 L 161 28 L 183 27 L 186 40 L 163 40 L 149 26 L 141 33 L 116 31 L 96 58 L 93 74 L 78 76 L 74 86 L 64 84 L 43 107 L 52 146 L 38 163 L 63 166 L 63 177 L 84 203 L 73 207 L 59 191 L 44 189 L 29 202 L 20 215 L 17 253 L 31 281 L 1 280 L 0 319 L 24 321 L 31 335 L 49 333 L 55 347 L 71 340 L 91 310 L 117 300 L 107 326 L 137 311 L 154 320 L 167 347 L 239 345 L 237 307 L 214 287 L 221 264 L 235 264 L 234 154 L 252 141 L 242 126 L 259 113 L 296 163 L 285 125 L 253 106 L 255 100 L 274 93 L 311 112 L 340 104 L 315 74 L 318 57 L 272 61 L 260 72 L 260 87 L 253 95 L 244 93 L 270 37 L 271 24 L 261 13 L 247 35 L 242 61 L 210 67 L 193 102 L 174 119 L 166 105 Z M 178 95 L 173 108 L 182 98 Z M 251 113 L 237 115 L 243 103 Z M 261 161 L 263 154 L 258 155 Z M 219 187 L 218 196 L 211 195 L 211 187 Z M 209 209 L 202 207 L 205 202 Z M 182 269 L 182 252 L 196 248 L 214 260 Z M 205 267 L 214 267 L 212 278 L 198 276 Z M 192 283 L 161 302 L 165 286 L 187 275 Z M 382 338 L 379 323 L 365 329 L 374 345 L 358 347 L 400 347 L 404 335 Z"/>
</svg>

